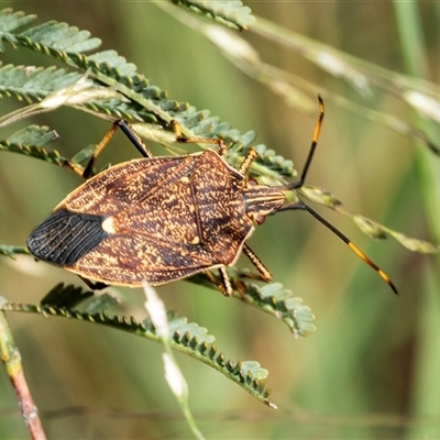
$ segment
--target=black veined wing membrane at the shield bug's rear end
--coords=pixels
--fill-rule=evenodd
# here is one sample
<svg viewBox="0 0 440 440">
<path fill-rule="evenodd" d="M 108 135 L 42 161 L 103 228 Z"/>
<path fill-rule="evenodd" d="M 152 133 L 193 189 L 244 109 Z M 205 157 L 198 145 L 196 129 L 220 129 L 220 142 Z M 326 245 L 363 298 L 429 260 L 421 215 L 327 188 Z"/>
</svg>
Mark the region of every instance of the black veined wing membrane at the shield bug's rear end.
<svg viewBox="0 0 440 440">
<path fill-rule="evenodd" d="M 38 260 L 72 266 L 106 239 L 102 221 L 102 216 L 58 209 L 32 231 L 28 249 Z"/>
</svg>

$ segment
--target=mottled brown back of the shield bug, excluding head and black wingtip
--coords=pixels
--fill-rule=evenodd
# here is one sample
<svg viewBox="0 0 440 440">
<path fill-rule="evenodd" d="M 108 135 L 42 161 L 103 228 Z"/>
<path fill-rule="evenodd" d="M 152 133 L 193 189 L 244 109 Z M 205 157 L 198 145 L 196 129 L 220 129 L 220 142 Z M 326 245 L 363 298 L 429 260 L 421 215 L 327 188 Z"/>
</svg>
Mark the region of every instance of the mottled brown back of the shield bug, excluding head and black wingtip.
<svg viewBox="0 0 440 440">
<path fill-rule="evenodd" d="M 167 283 L 231 265 L 253 231 L 244 177 L 217 153 L 116 165 L 58 208 L 111 217 L 110 233 L 73 267 L 108 284 Z"/>
</svg>

